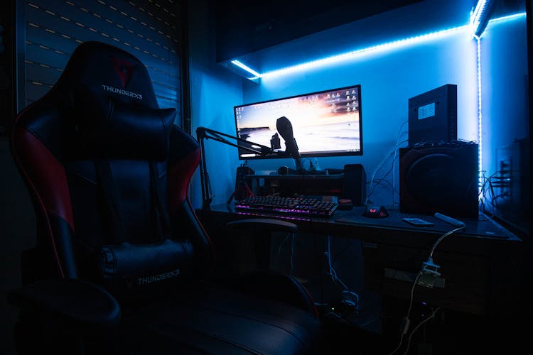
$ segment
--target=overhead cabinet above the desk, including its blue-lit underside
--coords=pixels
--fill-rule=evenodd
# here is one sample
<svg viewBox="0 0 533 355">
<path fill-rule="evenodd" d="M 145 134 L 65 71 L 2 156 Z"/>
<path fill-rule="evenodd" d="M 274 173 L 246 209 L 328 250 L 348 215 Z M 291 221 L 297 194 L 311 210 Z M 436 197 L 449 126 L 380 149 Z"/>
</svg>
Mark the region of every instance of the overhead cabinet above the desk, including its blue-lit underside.
<svg viewBox="0 0 533 355">
<path fill-rule="evenodd" d="M 524 11 L 524 2 L 492 0 L 485 18 Z M 243 77 L 257 77 L 257 72 L 462 28 L 476 4 L 478 0 L 217 1 L 217 62 Z"/>
</svg>

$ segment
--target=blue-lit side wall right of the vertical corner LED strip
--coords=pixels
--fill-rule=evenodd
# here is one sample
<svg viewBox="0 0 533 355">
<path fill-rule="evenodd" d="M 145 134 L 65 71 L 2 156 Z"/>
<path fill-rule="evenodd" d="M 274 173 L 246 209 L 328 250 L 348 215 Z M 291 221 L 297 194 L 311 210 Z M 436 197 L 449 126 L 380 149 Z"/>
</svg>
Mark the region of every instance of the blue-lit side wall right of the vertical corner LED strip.
<svg viewBox="0 0 533 355">
<path fill-rule="evenodd" d="M 485 189 L 485 207 L 518 229 L 530 224 L 530 175 L 526 17 L 492 21 L 480 40 L 483 126 L 483 178 L 502 176 L 505 185 Z M 529 165 L 530 166 L 530 165 Z M 530 169 L 530 168 L 529 168 Z M 488 180 L 484 180 L 488 186 Z"/>
</svg>

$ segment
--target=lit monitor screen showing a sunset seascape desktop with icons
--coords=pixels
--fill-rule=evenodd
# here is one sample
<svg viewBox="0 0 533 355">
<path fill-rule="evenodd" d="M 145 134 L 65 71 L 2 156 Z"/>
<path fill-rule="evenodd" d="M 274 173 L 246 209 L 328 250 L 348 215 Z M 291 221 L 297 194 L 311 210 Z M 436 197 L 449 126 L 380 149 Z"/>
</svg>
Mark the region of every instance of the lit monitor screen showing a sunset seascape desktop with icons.
<svg viewBox="0 0 533 355">
<path fill-rule="evenodd" d="M 286 117 L 301 157 L 362 155 L 360 84 L 239 105 L 234 111 L 237 137 L 246 140 L 242 146 L 286 151 L 284 134 L 276 129 L 276 121 Z M 239 148 L 241 160 L 280 157 Z"/>
</svg>

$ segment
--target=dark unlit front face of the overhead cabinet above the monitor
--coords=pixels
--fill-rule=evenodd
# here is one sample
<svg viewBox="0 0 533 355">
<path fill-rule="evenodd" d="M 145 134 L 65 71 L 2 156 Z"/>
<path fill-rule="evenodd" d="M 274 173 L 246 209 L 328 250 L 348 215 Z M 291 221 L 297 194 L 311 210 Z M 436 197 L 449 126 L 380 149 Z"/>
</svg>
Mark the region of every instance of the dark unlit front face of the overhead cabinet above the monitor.
<svg viewBox="0 0 533 355">
<path fill-rule="evenodd" d="M 217 62 L 421 1 L 216 1 Z"/>
</svg>

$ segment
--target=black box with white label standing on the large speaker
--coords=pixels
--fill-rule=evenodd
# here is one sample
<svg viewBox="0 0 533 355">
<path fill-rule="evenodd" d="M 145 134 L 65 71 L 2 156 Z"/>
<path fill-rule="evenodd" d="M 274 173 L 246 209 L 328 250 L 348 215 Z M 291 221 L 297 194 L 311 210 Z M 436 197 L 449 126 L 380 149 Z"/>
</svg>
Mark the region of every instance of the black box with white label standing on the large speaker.
<svg viewBox="0 0 533 355">
<path fill-rule="evenodd" d="M 409 146 L 457 141 L 457 85 L 409 99 Z"/>
</svg>

